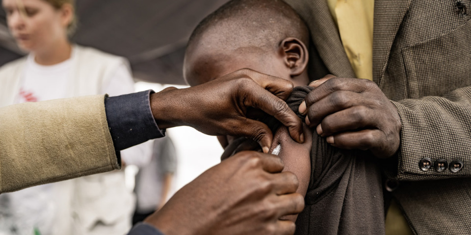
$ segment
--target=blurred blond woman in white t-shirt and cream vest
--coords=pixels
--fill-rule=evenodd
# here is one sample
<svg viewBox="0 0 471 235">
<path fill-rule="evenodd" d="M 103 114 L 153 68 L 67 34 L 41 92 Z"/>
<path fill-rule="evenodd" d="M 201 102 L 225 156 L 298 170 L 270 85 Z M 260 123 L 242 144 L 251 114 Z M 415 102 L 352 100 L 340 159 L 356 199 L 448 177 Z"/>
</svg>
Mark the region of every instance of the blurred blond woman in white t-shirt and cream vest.
<svg viewBox="0 0 471 235">
<path fill-rule="evenodd" d="M 126 59 L 73 44 L 74 0 L 3 0 L 8 27 L 29 54 L 0 68 L 0 107 L 81 95 L 134 91 Z M 123 152 L 132 164 L 135 150 Z M 133 151 L 138 151 L 133 153 Z M 129 157 L 133 158 L 129 158 Z M 6 234 L 123 234 L 131 228 L 132 191 L 124 171 L 2 194 Z M 120 205 L 117 207 L 116 205 Z"/>
</svg>

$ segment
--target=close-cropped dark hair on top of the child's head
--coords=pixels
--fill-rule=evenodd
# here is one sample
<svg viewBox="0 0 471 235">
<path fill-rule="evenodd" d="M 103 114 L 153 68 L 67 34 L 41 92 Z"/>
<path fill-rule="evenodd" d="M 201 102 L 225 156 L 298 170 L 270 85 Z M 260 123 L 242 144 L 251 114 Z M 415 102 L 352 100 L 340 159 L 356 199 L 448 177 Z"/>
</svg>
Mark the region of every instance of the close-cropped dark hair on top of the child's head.
<svg viewBox="0 0 471 235">
<path fill-rule="evenodd" d="M 232 0 L 207 16 L 190 36 L 188 46 L 203 33 L 217 30 L 226 46 L 267 47 L 278 40 L 296 37 L 309 43 L 306 24 L 282 0 Z M 274 46 L 271 45 L 271 46 Z"/>
</svg>

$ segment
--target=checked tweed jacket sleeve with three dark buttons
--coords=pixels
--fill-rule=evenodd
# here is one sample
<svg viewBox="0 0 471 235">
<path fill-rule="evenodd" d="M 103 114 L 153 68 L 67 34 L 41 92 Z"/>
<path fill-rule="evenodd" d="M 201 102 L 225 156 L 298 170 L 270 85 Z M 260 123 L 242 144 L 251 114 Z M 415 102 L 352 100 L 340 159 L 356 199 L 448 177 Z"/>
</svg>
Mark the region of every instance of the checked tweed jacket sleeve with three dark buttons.
<svg viewBox="0 0 471 235">
<path fill-rule="evenodd" d="M 393 104 L 402 124 L 398 180 L 471 176 L 471 87 L 443 97 L 425 96 Z M 427 160 L 430 167 L 421 167 Z M 439 163 L 443 163 L 441 169 Z"/>
</svg>

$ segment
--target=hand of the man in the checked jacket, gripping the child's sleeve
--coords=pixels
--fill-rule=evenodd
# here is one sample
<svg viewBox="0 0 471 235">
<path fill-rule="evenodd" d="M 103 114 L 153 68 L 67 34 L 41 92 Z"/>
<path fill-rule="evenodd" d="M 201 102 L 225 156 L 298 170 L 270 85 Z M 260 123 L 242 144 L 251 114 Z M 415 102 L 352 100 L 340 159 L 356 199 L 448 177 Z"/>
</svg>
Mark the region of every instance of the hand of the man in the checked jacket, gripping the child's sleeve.
<svg viewBox="0 0 471 235">
<path fill-rule="evenodd" d="M 401 121 L 396 108 L 376 83 L 333 75 L 311 83 L 315 89 L 299 106 L 306 124 L 316 127 L 330 144 L 370 150 L 391 157 L 400 143 Z"/>
</svg>

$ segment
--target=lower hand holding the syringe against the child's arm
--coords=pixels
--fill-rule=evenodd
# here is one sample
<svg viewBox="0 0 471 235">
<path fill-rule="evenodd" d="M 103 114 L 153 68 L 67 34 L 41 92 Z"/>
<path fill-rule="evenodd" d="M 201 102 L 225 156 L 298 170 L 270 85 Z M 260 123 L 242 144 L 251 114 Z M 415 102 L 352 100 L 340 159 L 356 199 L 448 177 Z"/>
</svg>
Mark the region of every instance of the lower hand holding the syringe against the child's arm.
<svg viewBox="0 0 471 235">
<path fill-rule="evenodd" d="M 296 176 L 280 158 L 239 152 L 180 189 L 145 222 L 165 235 L 293 234 L 279 218 L 304 208 Z"/>
</svg>

